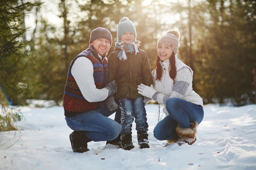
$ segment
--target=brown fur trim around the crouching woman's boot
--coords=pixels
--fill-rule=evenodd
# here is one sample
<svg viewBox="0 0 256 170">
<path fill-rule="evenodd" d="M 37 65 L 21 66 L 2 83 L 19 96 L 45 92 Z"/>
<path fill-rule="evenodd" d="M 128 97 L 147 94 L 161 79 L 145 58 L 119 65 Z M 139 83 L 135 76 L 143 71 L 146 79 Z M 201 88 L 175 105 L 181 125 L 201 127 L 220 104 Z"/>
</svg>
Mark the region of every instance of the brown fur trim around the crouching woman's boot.
<svg viewBox="0 0 256 170">
<path fill-rule="evenodd" d="M 176 133 L 178 134 L 179 137 L 184 137 L 184 138 L 194 138 L 196 135 L 196 127 L 197 127 L 198 123 L 196 121 L 194 122 L 190 122 L 190 126 L 189 127 L 180 127 L 180 125 L 178 125 L 175 129 Z"/>
</svg>

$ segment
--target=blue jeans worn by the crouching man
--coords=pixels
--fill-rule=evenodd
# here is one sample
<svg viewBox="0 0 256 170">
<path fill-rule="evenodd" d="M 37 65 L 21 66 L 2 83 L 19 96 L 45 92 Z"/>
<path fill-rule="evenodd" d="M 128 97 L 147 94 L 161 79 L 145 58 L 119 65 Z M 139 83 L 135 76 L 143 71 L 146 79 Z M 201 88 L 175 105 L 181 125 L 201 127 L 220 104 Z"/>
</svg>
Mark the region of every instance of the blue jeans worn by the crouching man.
<svg viewBox="0 0 256 170">
<path fill-rule="evenodd" d="M 74 131 L 84 131 L 93 141 L 108 141 L 115 139 L 120 131 L 120 111 L 117 111 L 114 121 L 110 116 L 114 111 L 108 110 L 105 103 L 100 109 L 86 111 L 75 117 L 65 117 L 68 127 Z"/>
</svg>

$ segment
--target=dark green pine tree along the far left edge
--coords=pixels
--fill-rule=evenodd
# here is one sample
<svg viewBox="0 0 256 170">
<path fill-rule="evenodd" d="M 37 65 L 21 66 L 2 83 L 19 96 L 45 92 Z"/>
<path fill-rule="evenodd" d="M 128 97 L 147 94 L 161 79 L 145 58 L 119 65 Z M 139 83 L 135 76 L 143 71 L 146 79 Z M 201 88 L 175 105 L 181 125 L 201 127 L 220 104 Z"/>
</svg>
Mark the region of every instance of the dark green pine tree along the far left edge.
<svg viewBox="0 0 256 170">
<path fill-rule="evenodd" d="M 21 114 L 9 104 L 24 103 L 24 95 L 29 93 L 24 82 L 27 51 L 22 42 L 26 32 L 22 21 L 25 12 L 36 5 L 40 4 L 0 1 L 0 131 L 15 129 L 12 122 L 20 120 Z"/>
</svg>

